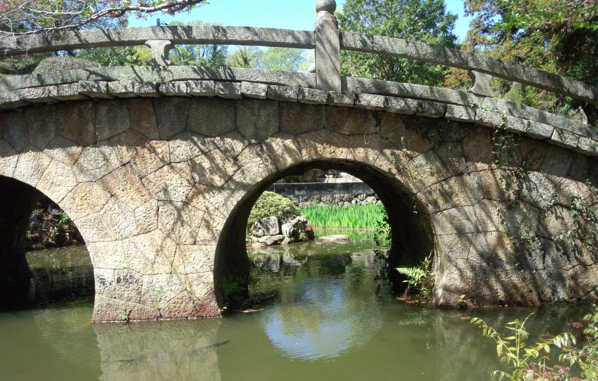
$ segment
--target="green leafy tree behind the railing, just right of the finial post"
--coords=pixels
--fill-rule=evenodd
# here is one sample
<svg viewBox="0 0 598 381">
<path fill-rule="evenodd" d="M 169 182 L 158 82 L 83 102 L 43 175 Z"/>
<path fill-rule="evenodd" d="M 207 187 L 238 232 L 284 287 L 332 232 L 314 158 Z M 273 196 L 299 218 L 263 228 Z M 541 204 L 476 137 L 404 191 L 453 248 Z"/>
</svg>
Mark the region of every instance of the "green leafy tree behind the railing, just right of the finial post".
<svg viewBox="0 0 598 381">
<path fill-rule="evenodd" d="M 341 30 L 454 47 L 457 16 L 444 0 L 347 0 L 337 13 Z M 341 51 L 344 75 L 440 85 L 448 69 L 415 60 Z"/>
</svg>

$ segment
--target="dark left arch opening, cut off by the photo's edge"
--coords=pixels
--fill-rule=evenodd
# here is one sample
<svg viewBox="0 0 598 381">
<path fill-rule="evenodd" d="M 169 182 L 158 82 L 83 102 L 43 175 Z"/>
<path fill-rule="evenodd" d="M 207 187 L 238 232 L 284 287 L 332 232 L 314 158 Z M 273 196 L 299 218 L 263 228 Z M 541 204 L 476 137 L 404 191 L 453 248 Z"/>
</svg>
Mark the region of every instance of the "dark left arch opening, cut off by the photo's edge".
<svg viewBox="0 0 598 381">
<path fill-rule="evenodd" d="M 91 258 L 62 208 L 10 177 L 0 176 L 0 196 L 4 208 L 0 218 L 0 300 L 4 303 L 0 311 L 81 298 L 93 303 Z M 66 248 L 72 244 L 80 245 Z"/>
</svg>

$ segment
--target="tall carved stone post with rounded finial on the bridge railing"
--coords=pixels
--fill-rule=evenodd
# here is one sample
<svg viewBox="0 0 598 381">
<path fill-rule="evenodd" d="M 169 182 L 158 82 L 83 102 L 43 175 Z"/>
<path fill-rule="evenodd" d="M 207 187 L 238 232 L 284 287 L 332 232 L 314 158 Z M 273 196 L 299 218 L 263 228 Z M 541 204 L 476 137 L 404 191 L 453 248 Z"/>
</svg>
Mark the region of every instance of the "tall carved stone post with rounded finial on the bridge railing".
<svg viewBox="0 0 598 381">
<path fill-rule="evenodd" d="M 341 91 L 340 35 L 335 10 L 334 0 L 316 1 L 316 81 L 320 90 Z"/>
</svg>

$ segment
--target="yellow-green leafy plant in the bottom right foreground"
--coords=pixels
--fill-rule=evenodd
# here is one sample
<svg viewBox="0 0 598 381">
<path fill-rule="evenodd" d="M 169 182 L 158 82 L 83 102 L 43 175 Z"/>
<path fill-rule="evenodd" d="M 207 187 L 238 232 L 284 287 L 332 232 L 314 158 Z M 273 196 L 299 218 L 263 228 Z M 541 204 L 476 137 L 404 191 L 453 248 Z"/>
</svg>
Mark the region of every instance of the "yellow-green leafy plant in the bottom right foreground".
<svg viewBox="0 0 598 381">
<path fill-rule="evenodd" d="M 510 370 L 496 370 L 492 379 L 504 377 L 515 380 L 596 380 L 598 377 L 598 307 L 585 315 L 584 320 L 589 325 L 584 330 L 586 345 L 581 349 L 575 348 L 575 337 L 570 333 L 561 333 L 552 339 L 540 339 L 533 345 L 526 343 L 529 333 L 525 328 L 528 315 L 523 321 L 518 319 L 508 322 L 505 328 L 511 331 L 511 336 L 503 337 L 480 318 L 472 318 L 471 323 L 482 329 L 483 335 L 491 337 L 496 343 L 496 353 Z M 550 365 L 551 348 L 562 351 L 559 360 L 567 362 L 569 367 Z M 571 369 L 576 367 L 579 374 L 572 374 Z"/>
</svg>

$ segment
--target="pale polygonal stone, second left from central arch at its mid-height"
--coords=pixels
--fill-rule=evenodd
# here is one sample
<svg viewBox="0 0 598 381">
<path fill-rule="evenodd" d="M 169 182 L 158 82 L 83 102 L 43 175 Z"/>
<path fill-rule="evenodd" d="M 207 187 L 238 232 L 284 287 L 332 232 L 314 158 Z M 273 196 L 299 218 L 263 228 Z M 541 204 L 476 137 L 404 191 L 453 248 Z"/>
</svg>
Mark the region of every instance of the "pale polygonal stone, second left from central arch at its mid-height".
<svg viewBox="0 0 598 381">
<path fill-rule="evenodd" d="M 158 202 L 158 229 L 179 245 L 193 245 L 205 212 L 185 202 Z"/>
</svg>

